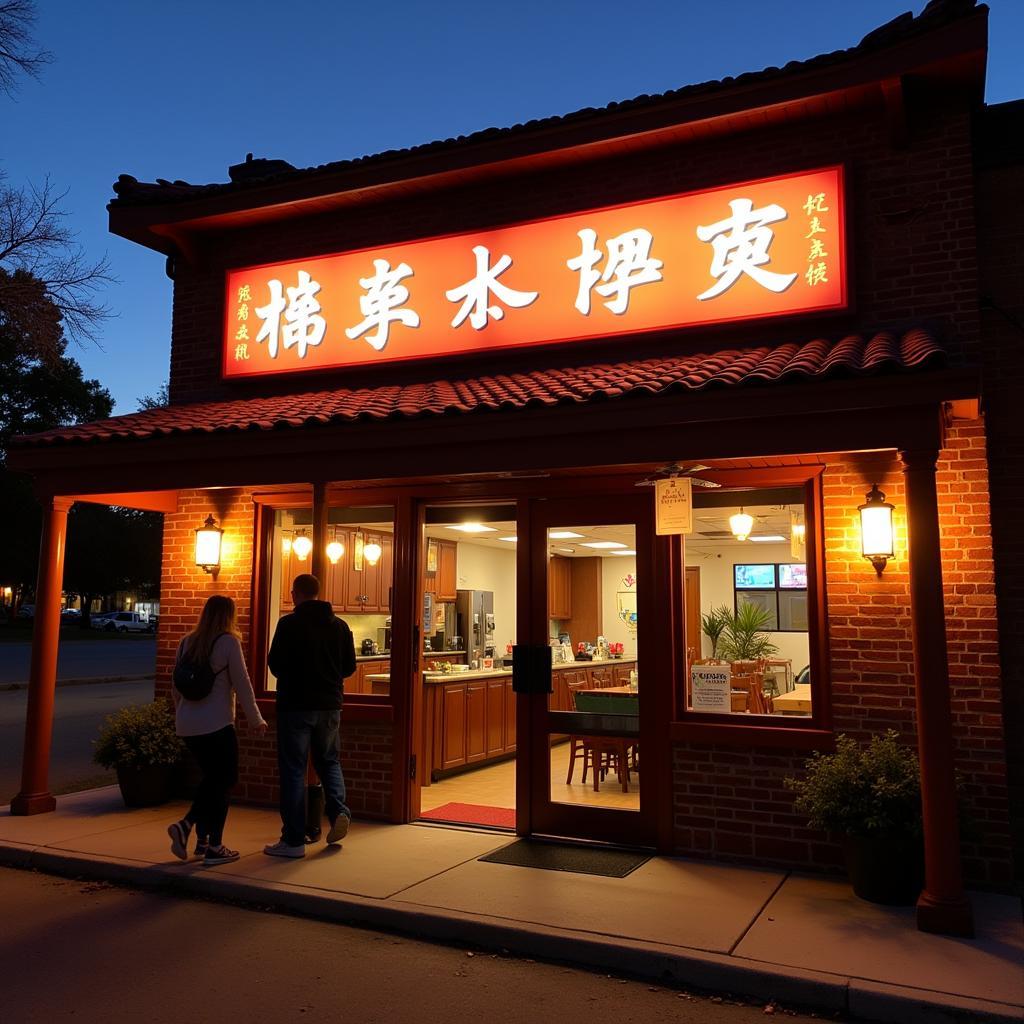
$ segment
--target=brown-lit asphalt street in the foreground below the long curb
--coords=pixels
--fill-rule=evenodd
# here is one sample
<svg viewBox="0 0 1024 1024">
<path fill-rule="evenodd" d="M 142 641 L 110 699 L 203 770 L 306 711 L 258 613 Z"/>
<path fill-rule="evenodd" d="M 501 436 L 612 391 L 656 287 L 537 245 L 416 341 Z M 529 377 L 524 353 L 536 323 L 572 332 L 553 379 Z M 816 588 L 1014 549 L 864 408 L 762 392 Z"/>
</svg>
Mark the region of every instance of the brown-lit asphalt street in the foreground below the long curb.
<svg viewBox="0 0 1024 1024">
<path fill-rule="evenodd" d="M 0 868 L 0 1016 L 11 1024 L 765 1017 L 728 996 L 12 868 Z"/>
</svg>

